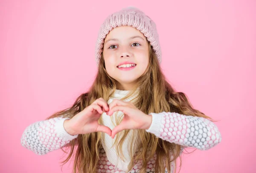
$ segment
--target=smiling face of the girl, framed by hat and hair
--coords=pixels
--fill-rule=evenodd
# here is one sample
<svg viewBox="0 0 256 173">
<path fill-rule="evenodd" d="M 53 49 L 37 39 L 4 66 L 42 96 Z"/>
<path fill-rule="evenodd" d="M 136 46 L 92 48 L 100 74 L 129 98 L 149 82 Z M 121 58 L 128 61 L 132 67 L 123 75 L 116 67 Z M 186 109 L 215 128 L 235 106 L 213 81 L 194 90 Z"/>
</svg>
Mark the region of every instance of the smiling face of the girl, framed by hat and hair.
<svg viewBox="0 0 256 173">
<path fill-rule="evenodd" d="M 131 90 L 135 85 L 134 80 L 139 78 L 148 66 L 147 39 L 132 26 L 116 27 L 105 38 L 103 57 L 106 71 L 108 75 L 119 82 L 120 86 L 118 87 Z M 125 61 L 136 64 L 136 66 L 130 68 L 117 67 Z"/>
</svg>

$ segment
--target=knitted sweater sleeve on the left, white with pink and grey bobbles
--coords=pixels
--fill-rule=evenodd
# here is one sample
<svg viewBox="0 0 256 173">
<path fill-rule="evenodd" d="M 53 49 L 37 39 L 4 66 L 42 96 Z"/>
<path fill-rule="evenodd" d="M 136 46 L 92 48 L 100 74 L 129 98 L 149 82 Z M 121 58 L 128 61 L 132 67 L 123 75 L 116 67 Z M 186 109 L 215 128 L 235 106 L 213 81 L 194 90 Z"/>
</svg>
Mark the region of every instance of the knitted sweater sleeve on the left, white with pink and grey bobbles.
<svg viewBox="0 0 256 173">
<path fill-rule="evenodd" d="M 30 124 L 20 139 L 22 146 L 38 155 L 60 149 L 78 136 L 66 132 L 63 125 L 66 119 L 69 118 L 56 117 Z"/>
</svg>

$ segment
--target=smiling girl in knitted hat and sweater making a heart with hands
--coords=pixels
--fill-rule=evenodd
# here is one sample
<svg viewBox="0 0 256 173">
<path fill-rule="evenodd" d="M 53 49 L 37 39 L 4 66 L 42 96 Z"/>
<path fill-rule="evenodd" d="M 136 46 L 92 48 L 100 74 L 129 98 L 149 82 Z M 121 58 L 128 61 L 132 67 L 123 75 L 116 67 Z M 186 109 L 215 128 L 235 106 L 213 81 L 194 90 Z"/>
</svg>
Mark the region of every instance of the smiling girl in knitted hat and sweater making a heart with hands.
<svg viewBox="0 0 256 173">
<path fill-rule="evenodd" d="M 185 147 L 221 142 L 161 72 L 156 26 L 136 8 L 110 15 L 96 43 L 98 73 L 72 107 L 26 127 L 21 144 L 44 155 L 65 148 L 76 173 L 173 173 Z M 207 119 L 208 118 L 208 119 Z"/>
</svg>

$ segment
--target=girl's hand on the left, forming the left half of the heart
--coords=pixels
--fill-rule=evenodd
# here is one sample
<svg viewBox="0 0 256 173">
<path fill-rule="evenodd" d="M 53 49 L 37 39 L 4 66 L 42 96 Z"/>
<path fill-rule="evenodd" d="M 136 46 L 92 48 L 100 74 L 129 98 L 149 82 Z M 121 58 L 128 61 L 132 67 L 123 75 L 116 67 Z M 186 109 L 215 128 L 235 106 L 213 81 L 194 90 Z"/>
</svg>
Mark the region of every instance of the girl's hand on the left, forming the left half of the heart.
<svg viewBox="0 0 256 173">
<path fill-rule="evenodd" d="M 108 103 L 103 98 L 98 98 L 73 118 L 65 120 L 64 129 L 70 135 L 104 132 L 111 136 L 111 129 L 98 123 L 101 114 L 108 110 Z"/>
</svg>

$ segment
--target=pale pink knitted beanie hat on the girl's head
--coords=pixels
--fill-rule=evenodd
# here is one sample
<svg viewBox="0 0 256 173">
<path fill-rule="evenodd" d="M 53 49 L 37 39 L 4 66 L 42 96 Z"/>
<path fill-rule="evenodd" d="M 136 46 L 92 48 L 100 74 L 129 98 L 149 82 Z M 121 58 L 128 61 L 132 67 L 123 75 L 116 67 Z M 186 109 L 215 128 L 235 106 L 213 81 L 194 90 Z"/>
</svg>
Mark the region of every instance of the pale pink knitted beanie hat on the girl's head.
<svg viewBox="0 0 256 173">
<path fill-rule="evenodd" d="M 133 26 L 138 29 L 150 42 L 154 52 L 161 63 L 161 48 L 158 39 L 157 28 L 151 20 L 142 11 L 134 7 L 128 7 L 109 15 L 99 29 L 98 39 L 96 41 L 96 63 L 99 66 L 99 60 L 102 57 L 104 39 L 108 32 L 118 26 Z"/>
</svg>

